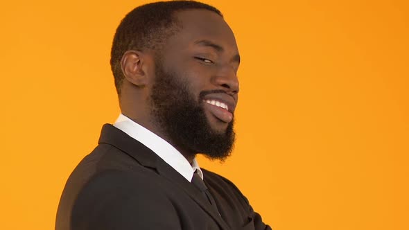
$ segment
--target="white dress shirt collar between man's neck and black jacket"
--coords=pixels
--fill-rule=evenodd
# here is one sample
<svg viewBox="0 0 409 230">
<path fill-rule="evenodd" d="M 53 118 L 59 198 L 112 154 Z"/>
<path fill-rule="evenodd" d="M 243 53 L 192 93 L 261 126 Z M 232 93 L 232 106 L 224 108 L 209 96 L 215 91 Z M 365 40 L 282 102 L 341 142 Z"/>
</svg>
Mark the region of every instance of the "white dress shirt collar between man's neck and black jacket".
<svg viewBox="0 0 409 230">
<path fill-rule="evenodd" d="M 114 126 L 155 152 L 189 182 L 191 182 L 195 170 L 198 171 L 198 175 L 203 179 L 203 172 L 200 170 L 196 159 L 193 159 L 192 164 L 190 164 L 189 161 L 183 157 L 182 153 L 177 151 L 170 143 L 161 137 L 150 132 L 146 127 L 139 125 L 123 114 L 119 115 Z"/>
</svg>

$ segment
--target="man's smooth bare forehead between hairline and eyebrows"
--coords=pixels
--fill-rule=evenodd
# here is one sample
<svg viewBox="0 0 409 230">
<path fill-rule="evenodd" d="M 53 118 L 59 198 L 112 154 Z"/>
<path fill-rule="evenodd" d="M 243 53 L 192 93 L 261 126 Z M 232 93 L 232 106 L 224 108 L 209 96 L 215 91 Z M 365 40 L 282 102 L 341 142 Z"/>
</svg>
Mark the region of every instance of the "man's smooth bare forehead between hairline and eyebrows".
<svg viewBox="0 0 409 230">
<path fill-rule="evenodd" d="M 226 51 L 238 53 L 232 29 L 216 12 L 210 10 L 182 10 L 175 17 L 181 26 L 168 40 L 168 48 L 191 46 L 200 40 L 214 42 Z"/>
</svg>

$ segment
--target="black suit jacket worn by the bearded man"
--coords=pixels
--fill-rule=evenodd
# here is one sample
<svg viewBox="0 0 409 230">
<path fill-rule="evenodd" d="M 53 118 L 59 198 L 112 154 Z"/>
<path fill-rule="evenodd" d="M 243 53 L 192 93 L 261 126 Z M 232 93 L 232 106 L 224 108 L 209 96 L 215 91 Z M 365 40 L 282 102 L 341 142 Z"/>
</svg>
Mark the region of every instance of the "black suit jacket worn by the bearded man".
<svg viewBox="0 0 409 230">
<path fill-rule="evenodd" d="M 202 171 L 221 216 L 155 152 L 106 124 L 65 185 L 55 229 L 270 229 L 232 182 Z"/>
</svg>

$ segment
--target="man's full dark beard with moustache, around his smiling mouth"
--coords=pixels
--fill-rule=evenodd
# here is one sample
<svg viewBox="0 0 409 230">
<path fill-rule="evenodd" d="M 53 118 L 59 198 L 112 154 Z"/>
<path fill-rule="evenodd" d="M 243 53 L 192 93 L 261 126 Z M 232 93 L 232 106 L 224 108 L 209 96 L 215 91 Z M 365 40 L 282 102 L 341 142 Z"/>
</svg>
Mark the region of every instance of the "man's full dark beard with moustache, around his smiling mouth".
<svg viewBox="0 0 409 230">
<path fill-rule="evenodd" d="M 225 161 L 234 146 L 234 121 L 225 131 L 214 130 L 203 106 L 205 95 L 220 93 L 220 90 L 202 91 L 195 98 L 187 82 L 176 73 L 164 71 L 160 62 L 156 63 L 155 76 L 150 96 L 153 123 L 163 130 L 175 148 L 191 154 L 184 157 L 201 153 L 209 159 Z"/>
</svg>

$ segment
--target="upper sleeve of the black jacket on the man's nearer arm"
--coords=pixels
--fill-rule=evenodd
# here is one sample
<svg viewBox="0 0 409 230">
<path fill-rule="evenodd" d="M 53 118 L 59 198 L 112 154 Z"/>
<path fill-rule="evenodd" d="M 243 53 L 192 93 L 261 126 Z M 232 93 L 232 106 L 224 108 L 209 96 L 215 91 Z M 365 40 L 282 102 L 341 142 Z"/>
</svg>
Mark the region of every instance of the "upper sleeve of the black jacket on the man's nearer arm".
<svg viewBox="0 0 409 230">
<path fill-rule="evenodd" d="M 114 170 L 92 178 L 73 206 L 71 229 L 181 229 L 170 200 L 152 183 Z"/>
</svg>

